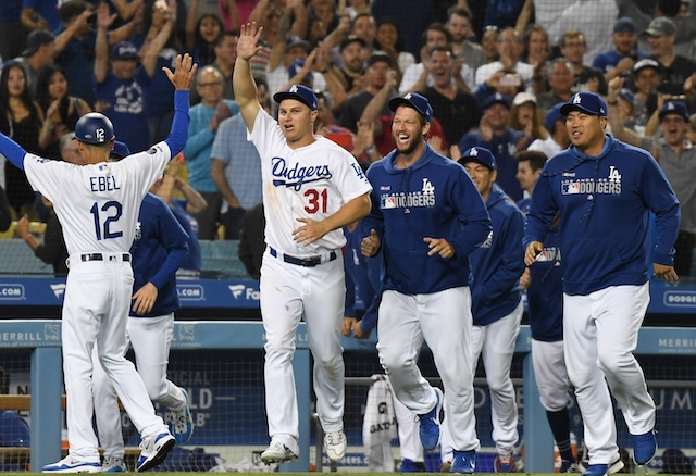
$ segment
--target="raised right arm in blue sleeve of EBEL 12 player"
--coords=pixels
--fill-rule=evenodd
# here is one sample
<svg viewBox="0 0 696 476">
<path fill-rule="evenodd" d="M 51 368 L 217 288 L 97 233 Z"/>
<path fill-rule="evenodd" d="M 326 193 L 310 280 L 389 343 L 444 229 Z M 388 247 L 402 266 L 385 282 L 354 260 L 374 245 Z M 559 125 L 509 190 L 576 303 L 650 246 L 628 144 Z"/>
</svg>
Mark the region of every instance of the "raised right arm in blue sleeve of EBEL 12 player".
<svg viewBox="0 0 696 476">
<path fill-rule="evenodd" d="M 172 130 L 170 131 L 170 136 L 164 140 L 172 152 L 172 159 L 184 150 L 184 146 L 186 146 L 188 123 L 190 122 L 190 117 L 188 116 L 188 91 L 198 71 L 198 64 L 194 63 L 194 59 L 188 53 L 185 53 L 183 57 L 177 54 L 175 64 L 174 73 L 166 66 L 162 68 L 175 89 Z"/>
</svg>

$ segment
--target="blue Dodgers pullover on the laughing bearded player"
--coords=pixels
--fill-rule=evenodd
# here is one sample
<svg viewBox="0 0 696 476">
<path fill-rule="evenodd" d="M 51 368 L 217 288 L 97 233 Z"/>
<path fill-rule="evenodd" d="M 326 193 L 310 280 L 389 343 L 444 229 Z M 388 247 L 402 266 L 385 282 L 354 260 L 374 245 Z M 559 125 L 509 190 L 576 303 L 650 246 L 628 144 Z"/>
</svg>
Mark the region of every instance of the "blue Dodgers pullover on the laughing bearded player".
<svg viewBox="0 0 696 476">
<path fill-rule="evenodd" d="M 423 295 L 468 286 L 469 254 L 490 233 L 478 190 L 464 167 L 427 145 L 410 167 L 396 168 L 396 159 L 391 151 L 368 170 L 372 211 L 361 221 L 363 236 L 374 229 L 382 243 L 383 290 Z M 445 238 L 455 258 L 428 256 L 425 237 Z"/>
</svg>

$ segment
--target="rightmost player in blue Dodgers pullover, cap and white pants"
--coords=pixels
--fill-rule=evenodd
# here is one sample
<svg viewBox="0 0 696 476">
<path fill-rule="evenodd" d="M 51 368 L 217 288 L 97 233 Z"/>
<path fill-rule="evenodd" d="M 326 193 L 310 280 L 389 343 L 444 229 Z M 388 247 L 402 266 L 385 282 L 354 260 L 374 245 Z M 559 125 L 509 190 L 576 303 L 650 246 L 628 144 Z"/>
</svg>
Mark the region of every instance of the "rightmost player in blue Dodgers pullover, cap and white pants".
<svg viewBox="0 0 696 476">
<path fill-rule="evenodd" d="M 680 223 L 679 201 L 652 156 L 605 135 L 607 105 L 577 92 L 561 108 L 571 146 L 548 161 L 527 215 L 524 261 L 534 266 L 560 212 L 563 252 L 563 341 L 570 381 L 583 415 L 586 476 L 623 467 L 611 396 L 617 399 L 639 465 L 655 455 L 655 403 L 633 355 L 648 306 L 646 263 L 669 283 Z M 656 216 L 650 251 L 648 213 Z"/>
</svg>

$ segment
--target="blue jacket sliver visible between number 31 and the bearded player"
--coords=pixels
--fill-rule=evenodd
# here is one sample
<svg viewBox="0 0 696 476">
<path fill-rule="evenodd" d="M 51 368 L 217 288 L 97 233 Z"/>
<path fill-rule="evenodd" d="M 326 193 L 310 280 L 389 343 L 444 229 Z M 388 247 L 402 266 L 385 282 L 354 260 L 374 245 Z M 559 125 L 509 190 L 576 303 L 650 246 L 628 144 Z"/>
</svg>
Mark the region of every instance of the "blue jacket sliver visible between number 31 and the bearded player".
<svg viewBox="0 0 696 476">
<path fill-rule="evenodd" d="M 349 231 L 344 228 L 346 246 L 344 247 L 344 268 L 346 270 L 346 317 L 356 317 L 356 290 L 365 306 L 360 320 L 360 329 L 370 333 L 377 325 L 377 310 L 382 301 L 380 281 L 382 279 L 382 253 L 365 258 L 360 252 L 362 229 L 360 224 Z"/>
</svg>

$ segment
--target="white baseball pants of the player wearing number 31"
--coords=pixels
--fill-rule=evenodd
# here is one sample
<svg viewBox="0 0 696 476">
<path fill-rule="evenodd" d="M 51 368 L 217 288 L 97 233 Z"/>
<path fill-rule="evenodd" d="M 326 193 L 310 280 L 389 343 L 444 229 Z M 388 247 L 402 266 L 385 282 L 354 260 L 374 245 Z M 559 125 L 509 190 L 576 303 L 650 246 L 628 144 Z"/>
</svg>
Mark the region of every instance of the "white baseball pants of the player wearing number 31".
<svg viewBox="0 0 696 476">
<path fill-rule="evenodd" d="M 340 347 L 346 284 L 344 262 L 314 267 L 285 263 L 268 250 L 261 265 L 261 316 L 265 330 L 265 409 L 269 435 L 299 453 L 299 417 L 293 354 L 303 317 L 314 358 L 316 411 L 324 433 L 343 430 L 345 366 Z"/>
</svg>

